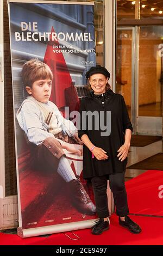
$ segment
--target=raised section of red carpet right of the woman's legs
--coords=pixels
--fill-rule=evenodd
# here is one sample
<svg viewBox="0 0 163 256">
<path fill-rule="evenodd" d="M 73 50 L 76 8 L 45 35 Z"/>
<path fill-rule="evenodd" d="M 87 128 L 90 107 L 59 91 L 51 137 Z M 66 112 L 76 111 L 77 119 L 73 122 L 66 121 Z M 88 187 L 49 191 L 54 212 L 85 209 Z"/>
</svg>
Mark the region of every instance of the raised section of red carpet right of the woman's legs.
<svg viewBox="0 0 163 256">
<path fill-rule="evenodd" d="M 162 185 L 162 192 L 159 187 Z M 131 214 L 163 216 L 163 172 L 148 170 L 126 182 Z"/>
</svg>

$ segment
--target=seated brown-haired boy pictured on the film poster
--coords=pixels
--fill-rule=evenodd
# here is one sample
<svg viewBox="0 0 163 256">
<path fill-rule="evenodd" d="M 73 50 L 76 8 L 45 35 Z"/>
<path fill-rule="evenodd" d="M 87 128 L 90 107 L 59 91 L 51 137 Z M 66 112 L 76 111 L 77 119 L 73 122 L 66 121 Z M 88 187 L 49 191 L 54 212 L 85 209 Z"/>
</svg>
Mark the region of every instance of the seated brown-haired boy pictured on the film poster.
<svg viewBox="0 0 163 256">
<path fill-rule="evenodd" d="M 32 145 L 35 166 L 58 172 L 70 188 L 73 206 L 83 214 L 93 215 L 95 205 L 74 174 L 63 150 L 81 155 L 82 145 L 72 121 L 62 117 L 58 107 L 49 101 L 52 79 L 49 66 L 37 59 L 23 65 L 23 86 L 29 96 L 17 111 L 18 124 Z"/>
</svg>

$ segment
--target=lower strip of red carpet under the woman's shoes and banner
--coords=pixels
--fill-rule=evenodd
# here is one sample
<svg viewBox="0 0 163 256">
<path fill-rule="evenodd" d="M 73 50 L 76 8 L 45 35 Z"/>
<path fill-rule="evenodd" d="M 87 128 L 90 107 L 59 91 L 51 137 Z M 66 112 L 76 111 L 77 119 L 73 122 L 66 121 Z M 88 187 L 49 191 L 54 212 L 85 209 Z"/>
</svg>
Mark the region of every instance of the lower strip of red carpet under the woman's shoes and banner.
<svg viewBox="0 0 163 256">
<path fill-rule="evenodd" d="M 63 233 L 48 237 L 29 237 L 21 239 L 17 235 L 0 233 L 0 245 L 163 245 L 163 218 L 131 216 L 142 227 L 139 235 L 131 234 L 118 224 L 114 214 L 110 218 L 110 230 L 102 235 L 92 235 L 91 229 L 73 231 L 79 240 L 70 240 Z M 66 234 L 72 237 L 70 232 Z"/>
</svg>

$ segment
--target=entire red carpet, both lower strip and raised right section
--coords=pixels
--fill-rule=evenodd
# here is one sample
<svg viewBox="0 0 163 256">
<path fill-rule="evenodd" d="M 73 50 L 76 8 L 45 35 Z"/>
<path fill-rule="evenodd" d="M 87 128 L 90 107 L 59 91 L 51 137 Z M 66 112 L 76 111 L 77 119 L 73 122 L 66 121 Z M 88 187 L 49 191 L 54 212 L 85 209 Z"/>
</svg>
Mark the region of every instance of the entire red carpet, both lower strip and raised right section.
<svg viewBox="0 0 163 256">
<path fill-rule="evenodd" d="M 163 216 L 162 200 L 159 198 L 159 186 L 163 185 L 163 172 L 149 170 L 126 182 L 129 208 L 132 214 Z M 45 237 L 21 239 L 17 235 L 0 233 L 0 245 L 163 245 L 163 218 L 148 216 L 130 216 L 139 223 L 142 232 L 131 234 L 118 224 L 118 217 L 110 217 L 110 230 L 102 235 L 91 234 L 91 229 L 75 230 L 79 240 L 70 240 L 64 233 Z M 71 232 L 66 234 L 73 236 Z"/>
</svg>

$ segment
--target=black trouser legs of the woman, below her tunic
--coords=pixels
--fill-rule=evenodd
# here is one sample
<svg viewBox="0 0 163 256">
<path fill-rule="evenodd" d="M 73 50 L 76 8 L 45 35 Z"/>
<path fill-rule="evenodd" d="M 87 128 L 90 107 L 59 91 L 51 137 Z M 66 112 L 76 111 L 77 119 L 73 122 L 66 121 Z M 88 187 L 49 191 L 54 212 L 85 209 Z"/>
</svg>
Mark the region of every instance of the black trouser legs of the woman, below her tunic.
<svg viewBox="0 0 163 256">
<path fill-rule="evenodd" d="M 91 181 L 95 196 L 97 215 L 99 218 L 106 218 L 109 216 L 108 197 L 106 194 L 108 175 L 94 176 Z M 127 192 L 124 184 L 124 173 L 110 174 L 109 186 L 113 193 L 116 214 L 121 217 L 128 215 L 129 209 Z"/>
</svg>

